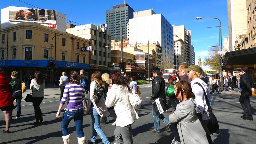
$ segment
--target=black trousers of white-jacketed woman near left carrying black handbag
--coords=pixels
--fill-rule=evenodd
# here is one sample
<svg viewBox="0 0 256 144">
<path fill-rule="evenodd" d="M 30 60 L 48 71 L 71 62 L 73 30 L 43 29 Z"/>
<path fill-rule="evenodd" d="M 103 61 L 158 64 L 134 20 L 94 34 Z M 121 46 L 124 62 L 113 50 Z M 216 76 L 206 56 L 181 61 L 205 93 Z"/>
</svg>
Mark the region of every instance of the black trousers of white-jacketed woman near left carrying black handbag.
<svg viewBox="0 0 256 144">
<path fill-rule="evenodd" d="M 35 110 L 36 121 L 39 121 L 41 118 L 43 118 L 42 111 L 39 107 L 43 99 L 44 97 L 32 97 L 32 103 Z"/>
</svg>

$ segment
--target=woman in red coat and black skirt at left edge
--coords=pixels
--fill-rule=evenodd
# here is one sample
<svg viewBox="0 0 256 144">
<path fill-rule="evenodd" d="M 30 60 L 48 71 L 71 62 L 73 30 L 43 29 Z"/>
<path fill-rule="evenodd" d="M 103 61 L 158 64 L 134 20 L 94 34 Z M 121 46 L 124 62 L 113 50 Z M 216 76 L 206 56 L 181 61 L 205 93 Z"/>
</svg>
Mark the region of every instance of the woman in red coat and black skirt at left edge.
<svg viewBox="0 0 256 144">
<path fill-rule="evenodd" d="M 5 76 L 4 69 L 0 68 L 0 109 L 4 112 L 5 129 L 3 132 L 10 133 L 10 125 L 12 121 L 11 110 L 13 106 L 12 92 L 10 90 L 10 80 Z"/>
</svg>

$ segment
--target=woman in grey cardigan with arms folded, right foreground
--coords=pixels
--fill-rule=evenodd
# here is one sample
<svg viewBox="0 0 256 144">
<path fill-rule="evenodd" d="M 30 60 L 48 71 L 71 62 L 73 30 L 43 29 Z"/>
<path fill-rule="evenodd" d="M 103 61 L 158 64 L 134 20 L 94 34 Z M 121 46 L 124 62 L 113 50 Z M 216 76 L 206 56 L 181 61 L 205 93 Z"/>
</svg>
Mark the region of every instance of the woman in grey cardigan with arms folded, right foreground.
<svg viewBox="0 0 256 144">
<path fill-rule="evenodd" d="M 208 144 L 206 133 L 200 123 L 197 113 L 200 113 L 195 102 L 190 83 L 184 80 L 174 85 L 174 93 L 180 103 L 169 116 L 171 123 L 178 122 L 178 132 L 182 144 Z"/>
</svg>

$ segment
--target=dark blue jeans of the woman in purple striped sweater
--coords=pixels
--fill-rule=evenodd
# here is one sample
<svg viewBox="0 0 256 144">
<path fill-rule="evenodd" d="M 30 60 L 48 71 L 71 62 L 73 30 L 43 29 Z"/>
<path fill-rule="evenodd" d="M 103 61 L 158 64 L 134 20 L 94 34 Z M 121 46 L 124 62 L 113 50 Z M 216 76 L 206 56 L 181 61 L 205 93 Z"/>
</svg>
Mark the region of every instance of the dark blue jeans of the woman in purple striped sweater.
<svg viewBox="0 0 256 144">
<path fill-rule="evenodd" d="M 65 111 L 63 114 L 63 119 L 61 122 L 61 129 L 63 136 L 68 135 L 68 124 L 74 119 L 76 124 L 76 133 L 79 138 L 84 137 L 83 131 L 83 118 L 84 118 L 84 109 L 78 109 L 73 111 Z"/>
</svg>

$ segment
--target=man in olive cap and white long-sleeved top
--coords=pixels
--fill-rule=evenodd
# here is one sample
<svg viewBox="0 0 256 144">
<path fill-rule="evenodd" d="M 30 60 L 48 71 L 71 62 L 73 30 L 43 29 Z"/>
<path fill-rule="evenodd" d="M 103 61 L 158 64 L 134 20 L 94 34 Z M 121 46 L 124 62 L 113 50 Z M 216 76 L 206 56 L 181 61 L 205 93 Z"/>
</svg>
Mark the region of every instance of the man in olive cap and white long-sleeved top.
<svg viewBox="0 0 256 144">
<path fill-rule="evenodd" d="M 192 92 L 195 94 L 196 96 L 196 103 L 198 105 L 198 108 L 200 108 L 201 113 L 203 114 L 202 119 L 200 119 L 200 122 L 206 132 L 206 136 L 207 136 L 207 140 L 209 142 L 209 144 L 212 144 L 212 138 L 211 138 L 211 133 L 208 130 L 207 125 L 209 124 L 209 112 L 208 112 L 208 106 L 206 104 L 206 100 L 204 97 L 204 91 L 206 92 L 206 95 L 208 97 L 208 100 L 210 100 L 210 94 L 209 94 L 209 90 L 207 87 L 207 84 L 202 81 L 199 77 L 200 74 L 202 72 L 202 68 L 200 68 L 198 65 L 190 65 L 186 71 L 188 72 L 188 78 L 191 79 L 192 81 L 191 83 L 191 87 L 192 87 Z M 208 75 L 209 77 L 209 75 Z M 203 86 L 204 90 L 202 89 L 201 86 L 199 86 L 198 84 L 195 83 L 199 83 Z"/>
</svg>

